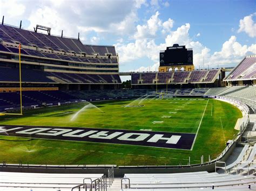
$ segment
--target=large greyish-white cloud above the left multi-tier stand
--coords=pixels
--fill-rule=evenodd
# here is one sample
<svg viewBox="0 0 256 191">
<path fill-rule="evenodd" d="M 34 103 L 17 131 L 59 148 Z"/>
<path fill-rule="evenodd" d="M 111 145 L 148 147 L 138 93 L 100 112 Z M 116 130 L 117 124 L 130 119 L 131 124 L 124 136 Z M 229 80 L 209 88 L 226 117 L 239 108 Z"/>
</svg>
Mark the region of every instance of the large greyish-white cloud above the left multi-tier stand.
<svg viewBox="0 0 256 191">
<path fill-rule="evenodd" d="M 71 37 L 77 37 L 78 32 L 81 37 L 89 32 L 130 36 L 134 33 L 134 24 L 138 19 L 137 10 L 146 5 L 146 0 L 67 2 L 0 1 L 0 12 L 5 15 L 5 23 L 18 25 L 20 19 L 26 19 L 23 23 L 29 23 L 29 29 L 42 24 L 52 28 L 51 33 L 56 35 L 64 30 L 64 35 Z"/>
</svg>

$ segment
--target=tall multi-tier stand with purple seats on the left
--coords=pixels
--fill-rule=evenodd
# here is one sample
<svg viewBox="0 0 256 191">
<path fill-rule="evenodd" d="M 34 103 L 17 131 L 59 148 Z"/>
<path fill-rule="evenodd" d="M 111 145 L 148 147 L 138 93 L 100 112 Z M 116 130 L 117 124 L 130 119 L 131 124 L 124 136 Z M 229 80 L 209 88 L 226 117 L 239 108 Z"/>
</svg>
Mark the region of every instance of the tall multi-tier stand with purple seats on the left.
<svg viewBox="0 0 256 191">
<path fill-rule="evenodd" d="M 99 84 L 116 88 L 122 83 L 114 46 L 83 45 L 79 39 L 3 24 L 0 25 L 0 39 L 0 83 L 17 84 L 19 81 L 19 44 L 23 86 L 28 86 L 26 83 L 70 84 L 62 85 L 69 89 L 78 88 L 72 84 Z"/>
</svg>

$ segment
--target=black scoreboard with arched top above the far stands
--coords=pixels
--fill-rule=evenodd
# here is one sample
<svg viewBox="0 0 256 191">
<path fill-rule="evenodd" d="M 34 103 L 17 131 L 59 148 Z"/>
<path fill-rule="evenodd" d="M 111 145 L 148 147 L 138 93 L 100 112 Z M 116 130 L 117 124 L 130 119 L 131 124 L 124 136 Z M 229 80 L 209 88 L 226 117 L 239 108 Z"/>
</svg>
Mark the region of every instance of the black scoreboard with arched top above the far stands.
<svg viewBox="0 0 256 191">
<path fill-rule="evenodd" d="M 173 44 L 173 46 L 166 47 L 165 51 L 161 51 L 159 58 L 160 66 L 193 65 L 193 50 Z"/>
</svg>

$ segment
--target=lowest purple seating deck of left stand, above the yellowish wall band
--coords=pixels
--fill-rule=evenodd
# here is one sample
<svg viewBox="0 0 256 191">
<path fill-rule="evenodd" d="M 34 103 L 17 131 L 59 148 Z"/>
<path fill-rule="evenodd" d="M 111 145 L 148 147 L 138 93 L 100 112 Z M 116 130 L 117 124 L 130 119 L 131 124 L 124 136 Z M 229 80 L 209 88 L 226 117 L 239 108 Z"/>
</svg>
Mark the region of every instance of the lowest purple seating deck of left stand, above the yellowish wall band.
<svg viewBox="0 0 256 191">
<path fill-rule="evenodd" d="M 0 67 L 0 82 L 18 82 L 19 69 Z M 75 83 L 75 84 L 120 84 L 118 74 L 83 74 L 64 72 L 44 72 L 42 70 L 22 69 L 25 83 Z"/>
</svg>

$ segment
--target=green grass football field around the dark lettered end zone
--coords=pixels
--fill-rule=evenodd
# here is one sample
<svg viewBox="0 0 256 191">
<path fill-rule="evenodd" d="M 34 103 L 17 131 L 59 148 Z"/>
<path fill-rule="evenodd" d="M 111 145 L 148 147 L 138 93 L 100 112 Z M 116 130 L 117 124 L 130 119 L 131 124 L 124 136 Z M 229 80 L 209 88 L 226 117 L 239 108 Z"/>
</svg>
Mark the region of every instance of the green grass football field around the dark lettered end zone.
<svg viewBox="0 0 256 191">
<path fill-rule="evenodd" d="M 0 125 L 91 127 L 195 133 L 192 151 L 98 142 L 43 140 L 0 135 L 0 161 L 34 164 L 183 165 L 208 161 L 238 133 L 234 129 L 241 112 L 214 99 L 139 99 L 71 104 L 24 111 L 23 116 L 4 115 Z M 127 105 L 133 107 L 125 107 Z M 140 106 L 140 107 L 138 107 Z M 84 108 L 83 110 L 81 110 Z M 154 121 L 163 121 L 156 123 Z"/>
</svg>

